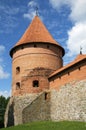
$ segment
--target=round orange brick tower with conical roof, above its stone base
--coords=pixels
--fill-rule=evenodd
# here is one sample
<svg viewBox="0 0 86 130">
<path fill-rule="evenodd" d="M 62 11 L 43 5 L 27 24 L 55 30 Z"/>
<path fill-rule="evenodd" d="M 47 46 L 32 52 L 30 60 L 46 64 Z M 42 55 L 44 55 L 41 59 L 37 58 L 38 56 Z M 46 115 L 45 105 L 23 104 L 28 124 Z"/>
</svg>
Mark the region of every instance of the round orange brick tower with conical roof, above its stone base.
<svg viewBox="0 0 86 130">
<path fill-rule="evenodd" d="M 35 16 L 11 49 L 12 96 L 49 89 L 48 76 L 63 66 L 64 49 Z"/>
</svg>

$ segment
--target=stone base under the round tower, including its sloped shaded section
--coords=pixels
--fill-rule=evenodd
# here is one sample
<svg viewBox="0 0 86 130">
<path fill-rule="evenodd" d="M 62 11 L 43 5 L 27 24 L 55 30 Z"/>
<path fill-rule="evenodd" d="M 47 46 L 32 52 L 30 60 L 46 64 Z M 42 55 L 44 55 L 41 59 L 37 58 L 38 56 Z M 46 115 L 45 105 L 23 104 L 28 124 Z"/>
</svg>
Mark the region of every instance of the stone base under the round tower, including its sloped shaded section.
<svg viewBox="0 0 86 130">
<path fill-rule="evenodd" d="M 38 120 L 50 120 L 49 92 L 11 97 L 5 112 L 5 127 Z"/>
</svg>

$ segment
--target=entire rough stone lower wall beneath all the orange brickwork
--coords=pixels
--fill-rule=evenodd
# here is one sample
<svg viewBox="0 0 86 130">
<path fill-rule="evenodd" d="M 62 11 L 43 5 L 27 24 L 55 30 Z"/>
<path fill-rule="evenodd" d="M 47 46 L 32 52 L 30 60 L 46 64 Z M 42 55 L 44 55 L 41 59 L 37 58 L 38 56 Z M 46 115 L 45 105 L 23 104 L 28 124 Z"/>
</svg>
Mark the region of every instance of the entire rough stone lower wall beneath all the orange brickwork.
<svg viewBox="0 0 86 130">
<path fill-rule="evenodd" d="M 86 80 L 72 81 L 59 90 L 11 97 L 5 127 L 38 120 L 86 121 Z"/>
</svg>

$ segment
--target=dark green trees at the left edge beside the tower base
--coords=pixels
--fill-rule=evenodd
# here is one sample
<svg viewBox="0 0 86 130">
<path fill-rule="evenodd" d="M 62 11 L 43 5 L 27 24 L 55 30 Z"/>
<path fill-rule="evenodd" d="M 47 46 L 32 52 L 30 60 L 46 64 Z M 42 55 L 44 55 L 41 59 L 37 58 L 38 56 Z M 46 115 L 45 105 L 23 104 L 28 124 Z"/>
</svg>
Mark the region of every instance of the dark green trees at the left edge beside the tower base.
<svg viewBox="0 0 86 130">
<path fill-rule="evenodd" d="M 4 127 L 4 114 L 8 101 L 9 97 L 6 99 L 4 96 L 0 96 L 0 128 Z"/>
</svg>

